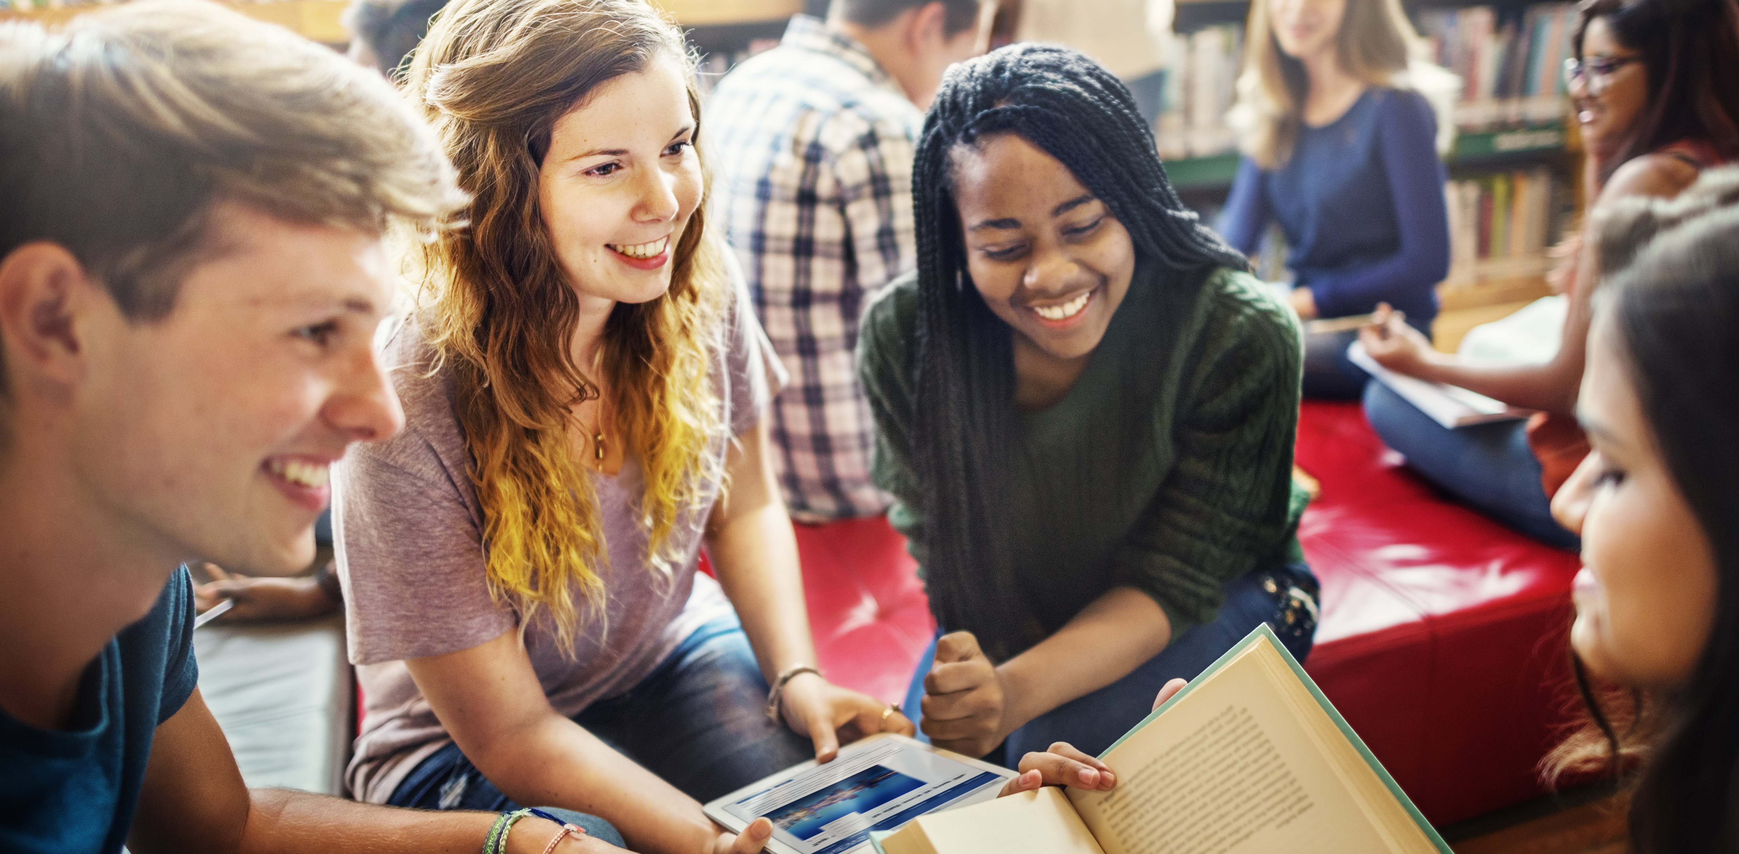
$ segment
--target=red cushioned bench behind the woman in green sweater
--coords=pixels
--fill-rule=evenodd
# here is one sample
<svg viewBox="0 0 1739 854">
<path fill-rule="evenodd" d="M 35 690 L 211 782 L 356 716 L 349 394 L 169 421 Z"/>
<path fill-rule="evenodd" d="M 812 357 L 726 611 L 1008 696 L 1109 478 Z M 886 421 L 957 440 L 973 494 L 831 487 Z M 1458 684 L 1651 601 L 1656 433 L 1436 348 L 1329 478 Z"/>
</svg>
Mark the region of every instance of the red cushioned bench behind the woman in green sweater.
<svg viewBox="0 0 1739 854">
<path fill-rule="evenodd" d="M 1356 403 L 1306 403 L 1297 462 L 1322 483 L 1299 528 L 1323 585 L 1306 670 L 1433 823 L 1544 793 L 1574 708 L 1576 555 L 1438 496 Z M 796 538 L 821 667 L 899 700 L 936 625 L 901 536 L 854 519 Z"/>
</svg>

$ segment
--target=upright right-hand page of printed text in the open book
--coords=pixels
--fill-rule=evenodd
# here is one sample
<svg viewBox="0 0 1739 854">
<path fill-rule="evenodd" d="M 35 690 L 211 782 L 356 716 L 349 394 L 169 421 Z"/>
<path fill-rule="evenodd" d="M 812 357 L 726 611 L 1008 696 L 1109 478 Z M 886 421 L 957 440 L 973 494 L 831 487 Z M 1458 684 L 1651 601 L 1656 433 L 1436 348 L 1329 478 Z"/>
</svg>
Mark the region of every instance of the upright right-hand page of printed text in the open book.
<svg viewBox="0 0 1739 854">
<path fill-rule="evenodd" d="M 1068 790 L 1106 854 L 1388 852 L 1252 644 Z"/>
</svg>

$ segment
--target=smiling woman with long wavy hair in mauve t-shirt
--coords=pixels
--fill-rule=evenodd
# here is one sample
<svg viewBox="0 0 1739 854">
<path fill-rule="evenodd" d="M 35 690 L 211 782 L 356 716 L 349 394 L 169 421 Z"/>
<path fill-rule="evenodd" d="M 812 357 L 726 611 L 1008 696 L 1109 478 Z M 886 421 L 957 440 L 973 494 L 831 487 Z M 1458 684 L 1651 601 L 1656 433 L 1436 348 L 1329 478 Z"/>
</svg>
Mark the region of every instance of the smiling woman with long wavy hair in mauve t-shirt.
<svg viewBox="0 0 1739 854">
<path fill-rule="evenodd" d="M 756 851 L 770 826 L 697 800 L 911 724 L 812 668 L 763 453 L 779 368 L 706 227 L 682 35 L 638 0 L 464 0 L 407 90 L 473 201 L 386 345 L 407 429 L 341 467 L 351 788 Z"/>
</svg>

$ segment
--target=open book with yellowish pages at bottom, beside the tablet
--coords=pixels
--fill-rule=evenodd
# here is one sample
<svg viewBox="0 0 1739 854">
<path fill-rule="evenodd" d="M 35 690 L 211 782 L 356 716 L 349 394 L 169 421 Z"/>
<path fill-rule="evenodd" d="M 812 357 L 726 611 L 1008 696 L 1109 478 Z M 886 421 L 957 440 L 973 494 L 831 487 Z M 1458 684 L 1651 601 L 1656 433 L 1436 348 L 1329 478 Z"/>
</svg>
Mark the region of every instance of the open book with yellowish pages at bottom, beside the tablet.
<svg viewBox="0 0 1739 854">
<path fill-rule="evenodd" d="M 1111 792 L 1047 786 L 871 840 L 883 854 L 1450 854 L 1266 625 L 1099 759 Z"/>
</svg>

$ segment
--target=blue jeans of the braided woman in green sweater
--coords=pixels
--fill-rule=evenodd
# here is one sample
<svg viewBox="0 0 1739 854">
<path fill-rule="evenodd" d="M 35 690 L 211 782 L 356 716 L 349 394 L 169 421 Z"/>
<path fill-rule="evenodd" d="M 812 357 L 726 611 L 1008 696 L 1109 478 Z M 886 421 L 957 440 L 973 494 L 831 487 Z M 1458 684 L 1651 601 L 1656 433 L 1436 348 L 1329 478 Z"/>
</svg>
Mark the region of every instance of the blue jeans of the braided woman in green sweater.
<svg viewBox="0 0 1739 854">
<path fill-rule="evenodd" d="M 1287 651 L 1304 661 L 1316 634 L 1316 576 L 1304 564 L 1256 569 L 1223 585 L 1226 602 L 1212 623 L 1186 628 L 1160 654 L 1099 691 L 1078 696 L 1028 720 L 991 750 L 984 760 L 1014 767 L 1029 752 L 1049 750 L 1054 741 L 1068 741 L 1085 753 L 1099 755 L 1130 727 L 1148 717 L 1153 698 L 1172 679 L 1195 679 L 1256 627 L 1268 623 Z M 1308 604 L 1306 604 L 1308 601 Z M 939 639 L 941 630 L 936 632 Z M 918 658 L 918 670 L 906 689 L 906 715 L 922 729 L 923 677 L 936 660 L 936 640 Z"/>
</svg>

